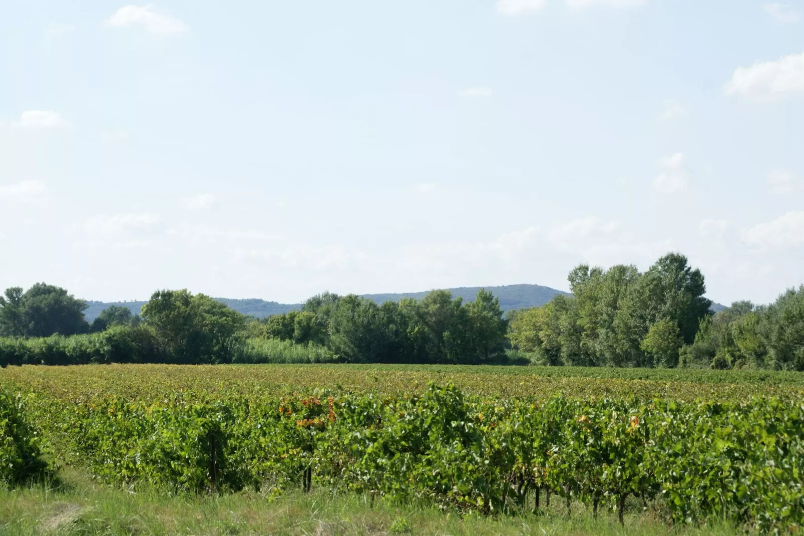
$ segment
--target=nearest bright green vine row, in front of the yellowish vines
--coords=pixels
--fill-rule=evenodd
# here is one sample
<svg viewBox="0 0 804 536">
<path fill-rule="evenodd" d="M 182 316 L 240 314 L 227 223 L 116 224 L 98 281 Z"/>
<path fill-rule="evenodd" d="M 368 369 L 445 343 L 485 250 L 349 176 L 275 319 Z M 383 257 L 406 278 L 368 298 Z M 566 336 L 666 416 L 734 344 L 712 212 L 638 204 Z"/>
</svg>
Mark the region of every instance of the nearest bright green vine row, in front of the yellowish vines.
<svg viewBox="0 0 804 536">
<path fill-rule="evenodd" d="M 481 513 L 532 497 L 538 507 L 542 493 L 621 510 L 633 493 L 661 501 L 676 522 L 804 523 L 804 405 L 778 398 L 503 399 L 431 386 L 157 400 L 41 394 L 29 410 L 51 451 L 117 483 L 322 486 Z"/>
</svg>

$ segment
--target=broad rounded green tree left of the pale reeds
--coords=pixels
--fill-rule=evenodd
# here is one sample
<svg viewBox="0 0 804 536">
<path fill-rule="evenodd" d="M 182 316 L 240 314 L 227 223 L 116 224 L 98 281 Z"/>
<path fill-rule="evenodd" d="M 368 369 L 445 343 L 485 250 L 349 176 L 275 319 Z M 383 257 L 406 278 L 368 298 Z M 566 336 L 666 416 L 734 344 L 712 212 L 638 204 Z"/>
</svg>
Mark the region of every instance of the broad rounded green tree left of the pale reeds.
<svg viewBox="0 0 804 536">
<path fill-rule="evenodd" d="M 187 290 L 154 292 L 142 316 L 170 360 L 178 363 L 231 362 L 234 337 L 245 328 L 237 311 Z"/>
</svg>

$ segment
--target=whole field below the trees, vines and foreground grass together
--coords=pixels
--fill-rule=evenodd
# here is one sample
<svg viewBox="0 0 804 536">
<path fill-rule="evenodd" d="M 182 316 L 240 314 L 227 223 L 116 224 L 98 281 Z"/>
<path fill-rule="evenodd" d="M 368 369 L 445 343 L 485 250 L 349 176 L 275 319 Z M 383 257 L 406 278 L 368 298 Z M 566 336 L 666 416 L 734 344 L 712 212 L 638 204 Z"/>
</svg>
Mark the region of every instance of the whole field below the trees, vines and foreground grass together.
<svg viewBox="0 0 804 536">
<path fill-rule="evenodd" d="M 19 469 L 0 494 L 7 534 L 63 513 L 80 534 L 731 534 L 804 520 L 802 373 L 85 365 L 8 367 L 0 386 L 0 422 L 24 446 L 6 449 Z M 23 450 L 48 467 L 29 459 L 25 476 Z"/>
</svg>

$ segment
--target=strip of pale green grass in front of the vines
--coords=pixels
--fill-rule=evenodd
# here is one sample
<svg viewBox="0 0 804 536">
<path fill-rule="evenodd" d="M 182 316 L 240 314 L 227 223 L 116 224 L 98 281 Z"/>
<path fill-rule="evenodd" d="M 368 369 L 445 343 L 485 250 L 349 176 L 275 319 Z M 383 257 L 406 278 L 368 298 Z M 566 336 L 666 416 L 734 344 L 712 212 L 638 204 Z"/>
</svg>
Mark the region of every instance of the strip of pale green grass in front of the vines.
<svg viewBox="0 0 804 536">
<path fill-rule="evenodd" d="M 491 517 L 442 512 L 429 505 L 394 505 L 358 495 L 293 492 L 276 500 L 253 492 L 225 496 L 170 496 L 153 489 L 110 488 L 80 472 L 64 473 L 57 485 L 0 489 L 0 535 L 25 534 L 646 534 L 697 536 L 740 534 L 730 526 L 669 527 L 634 501 L 625 526 L 603 511 L 597 521 L 581 505 L 566 516 L 561 501 L 536 516 Z"/>
</svg>

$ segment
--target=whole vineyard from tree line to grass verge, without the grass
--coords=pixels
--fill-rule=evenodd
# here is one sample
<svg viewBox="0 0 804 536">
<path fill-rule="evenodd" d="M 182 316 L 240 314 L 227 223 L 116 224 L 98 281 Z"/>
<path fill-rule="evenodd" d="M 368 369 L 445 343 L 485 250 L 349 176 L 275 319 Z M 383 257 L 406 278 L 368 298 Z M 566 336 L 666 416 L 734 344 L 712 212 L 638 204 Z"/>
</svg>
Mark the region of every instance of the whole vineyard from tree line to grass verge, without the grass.
<svg viewBox="0 0 804 536">
<path fill-rule="evenodd" d="M 678 524 L 804 522 L 800 375 L 551 370 L 10 367 L 0 478 L 50 460 L 173 493 L 315 488 L 482 514 L 552 500 L 620 517 L 638 497 Z"/>
</svg>

